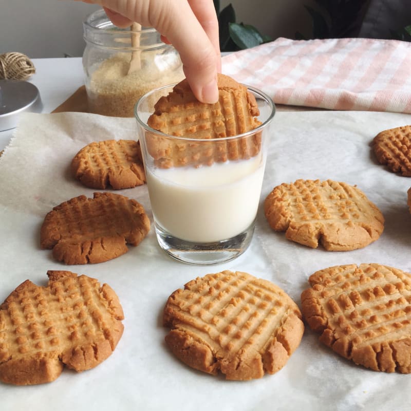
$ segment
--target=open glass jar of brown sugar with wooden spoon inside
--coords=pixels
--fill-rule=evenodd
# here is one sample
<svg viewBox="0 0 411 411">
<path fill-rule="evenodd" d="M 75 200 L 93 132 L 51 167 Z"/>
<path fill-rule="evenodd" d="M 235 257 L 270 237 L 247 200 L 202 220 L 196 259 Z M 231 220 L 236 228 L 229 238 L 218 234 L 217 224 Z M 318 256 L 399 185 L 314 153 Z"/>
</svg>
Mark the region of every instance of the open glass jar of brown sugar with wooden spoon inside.
<svg viewBox="0 0 411 411">
<path fill-rule="evenodd" d="M 184 78 L 179 54 L 160 40 L 154 28 L 120 29 L 101 9 L 87 16 L 83 29 L 90 113 L 134 117 L 134 106 L 142 95 Z"/>
</svg>

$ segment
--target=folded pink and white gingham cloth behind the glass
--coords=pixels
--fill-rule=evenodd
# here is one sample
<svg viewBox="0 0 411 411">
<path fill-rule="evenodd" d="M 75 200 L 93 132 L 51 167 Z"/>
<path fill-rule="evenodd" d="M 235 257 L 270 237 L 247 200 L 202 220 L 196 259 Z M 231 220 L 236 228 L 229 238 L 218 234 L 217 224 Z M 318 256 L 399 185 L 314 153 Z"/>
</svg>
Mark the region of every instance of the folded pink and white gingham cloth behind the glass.
<svg viewBox="0 0 411 411">
<path fill-rule="evenodd" d="M 222 58 L 222 72 L 276 104 L 411 113 L 411 43 L 279 38 Z"/>
</svg>

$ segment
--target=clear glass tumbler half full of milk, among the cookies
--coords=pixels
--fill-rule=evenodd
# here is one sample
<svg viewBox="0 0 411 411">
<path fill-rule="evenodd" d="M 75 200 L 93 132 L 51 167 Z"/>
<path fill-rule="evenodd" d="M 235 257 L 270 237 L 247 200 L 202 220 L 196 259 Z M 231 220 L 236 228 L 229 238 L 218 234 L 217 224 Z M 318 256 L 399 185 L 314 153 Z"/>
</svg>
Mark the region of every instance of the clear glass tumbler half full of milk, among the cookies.
<svg viewBox="0 0 411 411">
<path fill-rule="evenodd" d="M 170 136 L 147 119 L 173 87 L 148 92 L 135 107 L 158 244 L 185 263 L 229 261 L 253 236 L 275 106 L 248 87 L 260 111 L 254 130 L 215 139 Z"/>
</svg>

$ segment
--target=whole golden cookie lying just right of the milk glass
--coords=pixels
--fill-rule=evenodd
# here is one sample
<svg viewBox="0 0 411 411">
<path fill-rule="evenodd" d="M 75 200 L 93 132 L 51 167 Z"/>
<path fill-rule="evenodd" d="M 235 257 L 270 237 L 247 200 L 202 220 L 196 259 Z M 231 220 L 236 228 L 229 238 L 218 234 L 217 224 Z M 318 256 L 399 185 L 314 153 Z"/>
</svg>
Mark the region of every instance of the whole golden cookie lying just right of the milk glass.
<svg viewBox="0 0 411 411">
<path fill-rule="evenodd" d="M 289 240 L 327 251 L 356 250 L 377 240 L 384 217 L 357 188 L 332 180 L 280 184 L 264 202 L 267 220 Z"/>
</svg>

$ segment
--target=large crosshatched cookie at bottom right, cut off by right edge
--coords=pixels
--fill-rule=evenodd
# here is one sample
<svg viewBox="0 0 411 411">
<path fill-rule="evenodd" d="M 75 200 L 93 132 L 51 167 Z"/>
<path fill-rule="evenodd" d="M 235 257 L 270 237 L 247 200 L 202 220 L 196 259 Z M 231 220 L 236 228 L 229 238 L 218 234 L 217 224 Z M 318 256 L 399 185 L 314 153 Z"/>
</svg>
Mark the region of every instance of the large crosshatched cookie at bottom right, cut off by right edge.
<svg viewBox="0 0 411 411">
<path fill-rule="evenodd" d="M 301 295 L 305 321 L 342 357 L 411 372 L 411 274 L 379 264 L 326 268 Z"/>
</svg>

